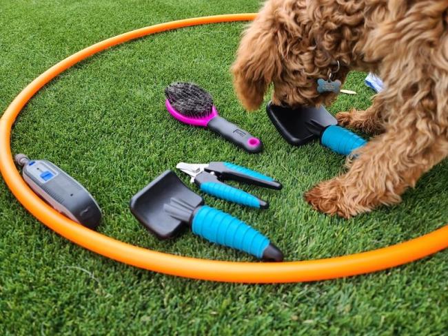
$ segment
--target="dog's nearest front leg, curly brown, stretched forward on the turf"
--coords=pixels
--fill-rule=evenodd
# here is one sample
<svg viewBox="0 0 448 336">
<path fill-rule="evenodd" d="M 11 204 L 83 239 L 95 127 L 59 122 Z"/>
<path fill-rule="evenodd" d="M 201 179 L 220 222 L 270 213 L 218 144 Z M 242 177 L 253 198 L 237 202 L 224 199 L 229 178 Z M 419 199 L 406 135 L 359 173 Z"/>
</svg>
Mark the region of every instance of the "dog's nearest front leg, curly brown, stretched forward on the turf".
<svg viewBox="0 0 448 336">
<path fill-rule="evenodd" d="M 428 129 L 388 129 L 358 151 L 347 174 L 321 182 L 305 199 L 318 211 L 344 218 L 400 202 L 407 187 L 448 155 L 447 129 L 438 136 Z"/>
</svg>

